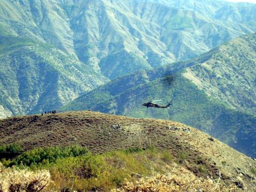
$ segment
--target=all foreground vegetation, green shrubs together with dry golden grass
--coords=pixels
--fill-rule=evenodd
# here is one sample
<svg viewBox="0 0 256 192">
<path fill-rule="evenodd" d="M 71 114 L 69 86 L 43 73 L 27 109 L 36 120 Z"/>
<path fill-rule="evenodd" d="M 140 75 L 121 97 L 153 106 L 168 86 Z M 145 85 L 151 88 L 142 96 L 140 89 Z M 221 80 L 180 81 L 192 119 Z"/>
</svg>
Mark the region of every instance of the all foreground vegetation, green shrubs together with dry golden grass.
<svg viewBox="0 0 256 192">
<path fill-rule="evenodd" d="M 0 191 L 238 191 L 222 181 L 195 177 L 172 162 L 169 150 L 161 152 L 153 146 L 101 155 L 92 155 L 79 146 L 51 147 L 33 149 L 20 157 L 23 162 L 37 157 L 34 162 L 47 163 L 25 164 L 26 170 L 22 164 L 18 169 L 0 163 Z M 203 167 L 199 171 L 205 172 Z"/>
</svg>

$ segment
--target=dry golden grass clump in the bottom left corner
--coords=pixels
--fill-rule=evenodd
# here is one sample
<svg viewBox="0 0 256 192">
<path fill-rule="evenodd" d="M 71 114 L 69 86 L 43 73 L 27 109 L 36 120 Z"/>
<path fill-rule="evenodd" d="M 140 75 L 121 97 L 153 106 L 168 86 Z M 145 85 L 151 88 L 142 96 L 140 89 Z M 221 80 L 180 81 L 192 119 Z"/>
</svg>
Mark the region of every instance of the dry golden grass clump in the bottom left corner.
<svg viewBox="0 0 256 192">
<path fill-rule="evenodd" d="M 14 191 L 51 191 L 49 171 L 27 171 L 15 167 L 5 168 L 0 164 L 0 192 Z"/>
</svg>

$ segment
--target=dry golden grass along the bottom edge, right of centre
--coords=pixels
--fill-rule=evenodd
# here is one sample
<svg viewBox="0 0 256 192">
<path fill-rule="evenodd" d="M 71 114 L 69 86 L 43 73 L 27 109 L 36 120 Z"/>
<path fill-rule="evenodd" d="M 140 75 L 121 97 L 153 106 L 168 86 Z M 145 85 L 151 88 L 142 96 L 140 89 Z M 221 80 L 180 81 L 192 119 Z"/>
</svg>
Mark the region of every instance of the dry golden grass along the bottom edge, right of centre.
<svg viewBox="0 0 256 192">
<path fill-rule="evenodd" d="M 241 191 L 235 185 L 226 186 L 219 179 L 212 180 L 210 178 L 189 179 L 187 175 L 175 174 L 156 174 L 153 177 L 143 177 L 136 182 L 126 182 L 120 189 L 113 189 L 111 192 L 233 192 Z"/>
</svg>

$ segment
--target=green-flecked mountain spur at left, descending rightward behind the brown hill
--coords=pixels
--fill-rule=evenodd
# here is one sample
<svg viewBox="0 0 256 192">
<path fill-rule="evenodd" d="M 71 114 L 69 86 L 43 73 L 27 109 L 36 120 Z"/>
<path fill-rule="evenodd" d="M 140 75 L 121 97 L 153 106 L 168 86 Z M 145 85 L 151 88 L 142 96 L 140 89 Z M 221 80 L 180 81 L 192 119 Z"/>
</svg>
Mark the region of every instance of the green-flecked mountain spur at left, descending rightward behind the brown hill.
<svg viewBox="0 0 256 192">
<path fill-rule="evenodd" d="M 53 110 L 106 82 L 65 52 L 28 38 L 0 37 L 0 117 Z"/>
</svg>

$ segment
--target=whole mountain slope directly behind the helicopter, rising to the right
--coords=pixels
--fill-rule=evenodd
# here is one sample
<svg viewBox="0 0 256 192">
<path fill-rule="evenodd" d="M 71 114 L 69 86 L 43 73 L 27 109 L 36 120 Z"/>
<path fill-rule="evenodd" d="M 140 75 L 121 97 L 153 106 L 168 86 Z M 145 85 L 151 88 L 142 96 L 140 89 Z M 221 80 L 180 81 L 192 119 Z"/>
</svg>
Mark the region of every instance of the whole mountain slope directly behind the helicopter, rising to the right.
<svg viewBox="0 0 256 192">
<path fill-rule="evenodd" d="M 91 109 L 172 119 L 206 131 L 255 157 L 254 46 L 255 34 L 237 38 L 195 60 L 117 78 L 83 94 L 61 110 Z M 246 57 L 234 59 L 239 54 Z M 192 73 L 193 69 L 197 72 Z M 200 73 L 207 75 L 196 75 Z M 237 79 L 232 81 L 233 78 Z M 141 100 L 154 99 L 172 100 L 173 106 L 170 110 L 141 106 Z"/>
</svg>

